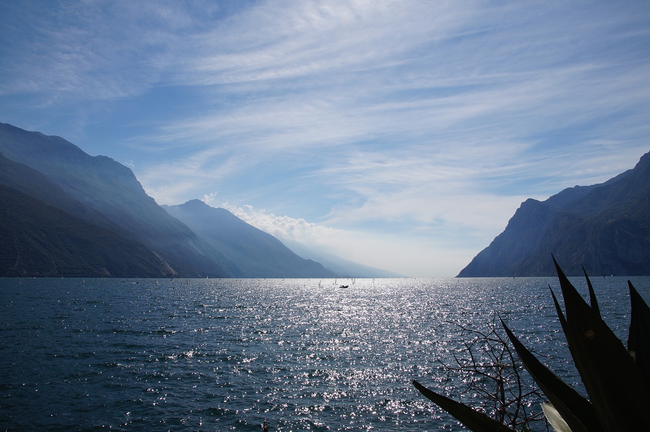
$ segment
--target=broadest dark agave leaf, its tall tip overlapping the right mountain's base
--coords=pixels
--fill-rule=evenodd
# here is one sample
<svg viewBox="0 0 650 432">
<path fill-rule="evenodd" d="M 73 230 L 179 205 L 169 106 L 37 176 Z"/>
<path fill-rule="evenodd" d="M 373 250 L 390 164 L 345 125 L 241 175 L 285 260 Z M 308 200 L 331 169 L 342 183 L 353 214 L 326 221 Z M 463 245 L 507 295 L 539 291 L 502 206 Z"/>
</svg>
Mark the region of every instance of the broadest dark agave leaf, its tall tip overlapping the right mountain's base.
<svg viewBox="0 0 650 432">
<path fill-rule="evenodd" d="M 584 301 L 553 258 L 566 312 L 573 361 L 606 431 L 640 430 L 650 397 L 623 343 Z"/>
</svg>

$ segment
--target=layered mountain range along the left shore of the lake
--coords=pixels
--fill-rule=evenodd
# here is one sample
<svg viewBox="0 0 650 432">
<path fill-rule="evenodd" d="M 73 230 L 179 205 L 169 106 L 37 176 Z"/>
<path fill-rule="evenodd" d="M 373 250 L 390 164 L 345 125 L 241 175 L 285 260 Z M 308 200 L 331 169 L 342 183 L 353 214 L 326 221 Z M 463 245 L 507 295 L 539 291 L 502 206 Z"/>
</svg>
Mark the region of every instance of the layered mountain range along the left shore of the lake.
<svg viewBox="0 0 650 432">
<path fill-rule="evenodd" d="M 337 276 L 227 210 L 162 208 L 124 165 L 5 123 L 0 245 L 0 276 Z"/>
</svg>

